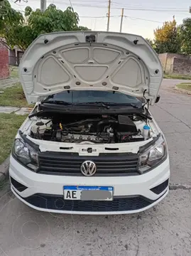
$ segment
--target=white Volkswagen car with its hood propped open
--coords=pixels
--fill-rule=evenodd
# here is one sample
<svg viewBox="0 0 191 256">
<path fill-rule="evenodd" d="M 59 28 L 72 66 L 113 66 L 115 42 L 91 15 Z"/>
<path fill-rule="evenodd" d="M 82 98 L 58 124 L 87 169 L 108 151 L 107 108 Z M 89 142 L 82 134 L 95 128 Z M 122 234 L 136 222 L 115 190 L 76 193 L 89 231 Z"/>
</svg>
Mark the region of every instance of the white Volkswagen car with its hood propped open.
<svg viewBox="0 0 191 256">
<path fill-rule="evenodd" d="M 160 60 L 141 37 L 75 31 L 39 36 L 20 79 L 33 111 L 16 135 L 11 190 L 54 213 L 138 213 L 168 194 L 158 102 Z"/>
</svg>

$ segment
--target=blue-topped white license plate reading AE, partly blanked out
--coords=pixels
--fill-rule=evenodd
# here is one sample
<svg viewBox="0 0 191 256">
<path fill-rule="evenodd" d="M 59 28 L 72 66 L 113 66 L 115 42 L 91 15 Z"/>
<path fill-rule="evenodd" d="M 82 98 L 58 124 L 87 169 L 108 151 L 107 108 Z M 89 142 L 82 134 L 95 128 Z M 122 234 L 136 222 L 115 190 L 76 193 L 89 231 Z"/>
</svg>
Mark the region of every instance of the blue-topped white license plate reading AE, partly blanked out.
<svg viewBox="0 0 191 256">
<path fill-rule="evenodd" d="M 111 186 L 63 186 L 65 200 L 112 201 Z"/>
</svg>

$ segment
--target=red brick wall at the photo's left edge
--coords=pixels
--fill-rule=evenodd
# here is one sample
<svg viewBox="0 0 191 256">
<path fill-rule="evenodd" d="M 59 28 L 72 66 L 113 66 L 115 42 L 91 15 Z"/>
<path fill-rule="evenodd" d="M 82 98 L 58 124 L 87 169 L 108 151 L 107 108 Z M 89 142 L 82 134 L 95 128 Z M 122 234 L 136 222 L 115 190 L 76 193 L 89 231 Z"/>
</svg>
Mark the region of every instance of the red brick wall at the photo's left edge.
<svg viewBox="0 0 191 256">
<path fill-rule="evenodd" d="M 0 79 L 9 78 L 9 50 L 0 43 Z"/>
</svg>

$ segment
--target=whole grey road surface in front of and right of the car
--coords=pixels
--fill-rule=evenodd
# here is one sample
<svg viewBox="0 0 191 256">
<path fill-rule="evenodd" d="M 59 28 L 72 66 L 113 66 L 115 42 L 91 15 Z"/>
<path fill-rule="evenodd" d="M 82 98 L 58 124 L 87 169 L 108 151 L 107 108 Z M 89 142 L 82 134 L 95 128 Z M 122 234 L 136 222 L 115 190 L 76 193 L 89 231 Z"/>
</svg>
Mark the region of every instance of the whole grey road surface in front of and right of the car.
<svg viewBox="0 0 191 256">
<path fill-rule="evenodd" d="M 171 190 L 155 208 L 133 215 L 58 215 L 28 208 L 1 190 L 1 256 L 190 256 L 191 96 L 163 80 L 152 107 L 168 141 Z"/>
</svg>

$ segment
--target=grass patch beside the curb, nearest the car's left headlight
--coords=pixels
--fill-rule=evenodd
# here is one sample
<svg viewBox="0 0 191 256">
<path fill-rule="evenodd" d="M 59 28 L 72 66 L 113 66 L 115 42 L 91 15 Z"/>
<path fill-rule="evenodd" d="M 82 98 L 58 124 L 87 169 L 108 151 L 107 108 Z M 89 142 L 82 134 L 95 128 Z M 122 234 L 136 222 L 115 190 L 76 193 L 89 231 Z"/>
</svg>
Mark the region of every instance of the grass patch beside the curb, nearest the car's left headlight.
<svg viewBox="0 0 191 256">
<path fill-rule="evenodd" d="M 0 164 L 9 156 L 13 139 L 26 115 L 0 114 Z"/>
</svg>

